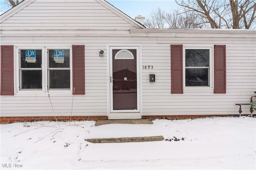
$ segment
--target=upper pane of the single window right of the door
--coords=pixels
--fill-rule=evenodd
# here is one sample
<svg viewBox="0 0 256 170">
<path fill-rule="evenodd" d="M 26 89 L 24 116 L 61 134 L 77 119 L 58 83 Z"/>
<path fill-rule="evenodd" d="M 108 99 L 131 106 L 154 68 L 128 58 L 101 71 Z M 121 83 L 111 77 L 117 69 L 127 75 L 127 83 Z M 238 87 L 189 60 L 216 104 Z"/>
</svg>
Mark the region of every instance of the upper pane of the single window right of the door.
<svg viewBox="0 0 256 170">
<path fill-rule="evenodd" d="M 186 49 L 186 67 L 209 66 L 210 50 Z"/>
</svg>

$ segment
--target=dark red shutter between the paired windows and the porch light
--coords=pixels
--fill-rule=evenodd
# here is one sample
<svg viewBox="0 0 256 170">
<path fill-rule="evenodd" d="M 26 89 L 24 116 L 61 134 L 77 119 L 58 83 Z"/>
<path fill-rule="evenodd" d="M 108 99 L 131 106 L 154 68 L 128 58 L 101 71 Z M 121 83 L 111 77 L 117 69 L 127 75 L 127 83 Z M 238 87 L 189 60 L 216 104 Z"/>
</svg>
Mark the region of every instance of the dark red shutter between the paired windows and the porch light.
<svg viewBox="0 0 256 170">
<path fill-rule="evenodd" d="M 72 45 L 73 94 L 85 94 L 84 45 Z"/>
</svg>

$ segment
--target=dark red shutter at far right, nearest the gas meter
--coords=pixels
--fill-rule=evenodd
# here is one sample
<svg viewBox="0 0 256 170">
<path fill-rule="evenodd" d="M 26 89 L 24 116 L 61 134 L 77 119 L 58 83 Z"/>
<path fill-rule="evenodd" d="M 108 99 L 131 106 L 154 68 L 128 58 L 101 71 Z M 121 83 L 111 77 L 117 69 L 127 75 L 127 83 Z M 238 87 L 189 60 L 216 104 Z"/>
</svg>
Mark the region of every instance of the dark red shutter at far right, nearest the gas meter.
<svg viewBox="0 0 256 170">
<path fill-rule="evenodd" d="M 226 45 L 214 45 L 214 93 L 226 93 Z"/>
</svg>

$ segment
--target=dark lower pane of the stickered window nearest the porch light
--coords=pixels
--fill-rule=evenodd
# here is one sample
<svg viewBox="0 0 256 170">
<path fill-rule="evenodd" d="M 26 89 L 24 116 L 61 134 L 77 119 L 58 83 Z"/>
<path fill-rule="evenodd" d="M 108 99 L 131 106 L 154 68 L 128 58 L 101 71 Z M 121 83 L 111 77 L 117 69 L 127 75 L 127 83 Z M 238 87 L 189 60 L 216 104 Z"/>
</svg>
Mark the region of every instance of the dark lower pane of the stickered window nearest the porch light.
<svg viewBox="0 0 256 170">
<path fill-rule="evenodd" d="M 49 88 L 70 88 L 70 70 L 49 70 Z"/>
</svg>

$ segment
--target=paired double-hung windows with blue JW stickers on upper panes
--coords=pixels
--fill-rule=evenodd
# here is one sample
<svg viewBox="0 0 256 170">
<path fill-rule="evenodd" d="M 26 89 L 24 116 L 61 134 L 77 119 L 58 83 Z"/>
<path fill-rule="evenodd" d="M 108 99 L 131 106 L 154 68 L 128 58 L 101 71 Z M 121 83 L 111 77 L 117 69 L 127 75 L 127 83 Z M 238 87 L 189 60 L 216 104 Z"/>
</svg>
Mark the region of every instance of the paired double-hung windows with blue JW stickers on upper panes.
<svg viewBox="0 0 256 170">
<path fill-rule="evenodd" d="M 70 48 L 19 49 L 17 90 L 70 90 Z"/>
</svg>

